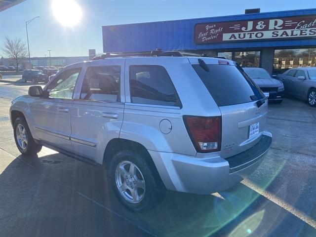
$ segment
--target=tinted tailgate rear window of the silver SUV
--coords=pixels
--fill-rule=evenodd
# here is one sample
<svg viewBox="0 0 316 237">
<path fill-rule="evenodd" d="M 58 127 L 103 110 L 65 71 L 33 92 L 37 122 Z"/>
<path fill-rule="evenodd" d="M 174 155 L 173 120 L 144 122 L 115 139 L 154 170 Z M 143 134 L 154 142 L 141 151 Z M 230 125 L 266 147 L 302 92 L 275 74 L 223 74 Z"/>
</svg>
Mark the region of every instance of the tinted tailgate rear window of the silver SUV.
<svg viewBox="0 0 316 237">
<path fill-rule="evenodd" d="M 218 106 L 251 102 L 253 95 L 263 98 L 259 87 L 236 66 L 207 64 L 209 72 L 199 64 L 192 66 Z"/>
</svg>

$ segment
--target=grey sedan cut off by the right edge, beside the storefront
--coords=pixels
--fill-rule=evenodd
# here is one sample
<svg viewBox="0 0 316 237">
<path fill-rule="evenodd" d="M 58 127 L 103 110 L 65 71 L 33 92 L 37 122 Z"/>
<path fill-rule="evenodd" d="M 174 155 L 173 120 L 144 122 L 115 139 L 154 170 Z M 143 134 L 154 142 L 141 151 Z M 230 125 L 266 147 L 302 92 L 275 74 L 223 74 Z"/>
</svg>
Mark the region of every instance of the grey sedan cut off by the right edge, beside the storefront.
<svg viewBox="0 0 316 237">
<path fill-rule="evenodd" d="M 289 69 L 277 75 L 277 79 L 283 82 L 286 94 L 316 107 L 316 67 Z"/>
</svg>

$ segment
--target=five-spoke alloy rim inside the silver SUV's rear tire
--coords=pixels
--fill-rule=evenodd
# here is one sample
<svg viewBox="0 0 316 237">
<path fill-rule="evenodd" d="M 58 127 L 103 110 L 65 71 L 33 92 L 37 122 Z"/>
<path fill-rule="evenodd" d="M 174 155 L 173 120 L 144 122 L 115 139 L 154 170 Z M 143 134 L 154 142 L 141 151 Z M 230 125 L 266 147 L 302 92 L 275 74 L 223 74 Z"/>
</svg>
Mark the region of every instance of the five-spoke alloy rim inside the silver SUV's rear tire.
<svg viewBox="0 0 316 237">
<path fill-rule="evenodd" d="M 142 172 L 131 161 L 121 161 L 115 170 L 115 181 L 119 193 L 130 203 L 139 203 L 145 196 L 145 180 Z"/>
</svg>

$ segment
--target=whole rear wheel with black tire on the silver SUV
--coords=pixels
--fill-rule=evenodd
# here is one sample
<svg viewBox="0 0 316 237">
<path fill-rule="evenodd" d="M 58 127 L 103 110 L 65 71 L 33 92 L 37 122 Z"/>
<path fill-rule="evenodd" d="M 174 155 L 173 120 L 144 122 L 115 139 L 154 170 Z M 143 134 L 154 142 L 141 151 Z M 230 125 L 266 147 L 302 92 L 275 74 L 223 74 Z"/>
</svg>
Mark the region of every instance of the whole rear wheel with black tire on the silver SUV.
<svg viewBox="0 0 316 237">
<path fill-rule="evenodd" d="M 165 195 L 165 187 L 156 168 L 151 167 L 152 165 L 146 161 L 150 158 L 149 155 L 145 156 L 140 156 L 134 151 L 119 151 L 112 158 L 107 170 L 108 180 L 116 197 L 133 212 L 144 212 L 154 208 Z M 129 171 L 131 165 L 135 165 L 134 172 Z M 133 196 L 132 192 L 138 195 Z"/>
</svg>

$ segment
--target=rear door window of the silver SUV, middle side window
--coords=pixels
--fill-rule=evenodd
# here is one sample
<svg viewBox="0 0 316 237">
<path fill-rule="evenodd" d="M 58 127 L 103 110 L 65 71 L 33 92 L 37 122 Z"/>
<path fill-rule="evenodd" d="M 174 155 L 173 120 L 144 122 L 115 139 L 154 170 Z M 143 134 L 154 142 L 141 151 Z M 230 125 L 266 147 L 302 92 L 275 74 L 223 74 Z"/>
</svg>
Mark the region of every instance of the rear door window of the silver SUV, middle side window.
<svg viewBox="0 0 316 237">
<path fill-rule="evenodd" d="M 120 66 L 88 67 L 82 82 L 80 99 L 119 102 Z"/>
</svg>

